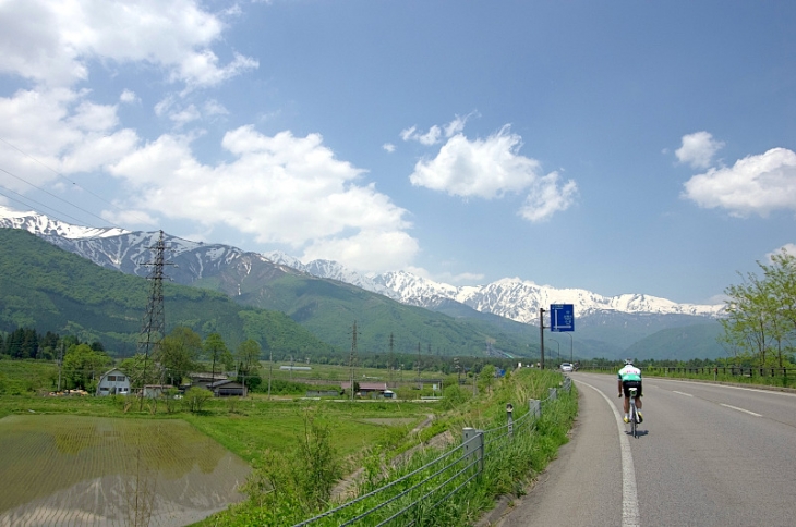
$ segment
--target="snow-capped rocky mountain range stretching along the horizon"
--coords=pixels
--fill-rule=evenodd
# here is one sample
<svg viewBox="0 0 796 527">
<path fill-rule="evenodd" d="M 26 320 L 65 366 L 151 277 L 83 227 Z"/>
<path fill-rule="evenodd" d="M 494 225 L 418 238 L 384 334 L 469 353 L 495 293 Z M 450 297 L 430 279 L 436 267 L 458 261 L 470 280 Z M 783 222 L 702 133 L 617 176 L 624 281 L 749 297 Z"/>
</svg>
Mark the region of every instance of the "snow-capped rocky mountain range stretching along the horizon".
<svg viewBox="0 0 796 527">
<path fill-rule="evenodd" d="M 35 212 L 19 212 L 0 207 L 0 226 L 24 229 L 48 242 L 80 254 L 95 264 L 122 272 L 146 275 L 152 259 L 150 248 L 159 232 L 130 232 L 120 229 L 94 229 L 70 225 Z M 331 260 L 303 264 L 280 252 L 257 254 L 221 244 L 204 244 L 165 235 L 167 258 L 176 264 L 168 275 L 178 283 L 191 284 L 215 275 L 222 268 L 233 267 L 240 281 L 256 273 L 305 272 L 337 280 L 366 291 L 389 296 L 403 304 L 433 309 L 444 301 L 454 301 L 481 312 L 489 312 L 518 322 L 535 324 L 539 309 L 551 304 L 574 304 L 576 317 L 595 312 L 690 315 L 716 317 L 723 305 L 676 304 L 643 294 L 601 296 L 580 289 L 554 289 L 519 278 L 506 278 L 485 285 L 454 286 L 434 282 L 406 271 L 374 277 L 363 275 Z M 241 285 L 228 284 L 227 293 L 236 294 Z"/>
</svg>

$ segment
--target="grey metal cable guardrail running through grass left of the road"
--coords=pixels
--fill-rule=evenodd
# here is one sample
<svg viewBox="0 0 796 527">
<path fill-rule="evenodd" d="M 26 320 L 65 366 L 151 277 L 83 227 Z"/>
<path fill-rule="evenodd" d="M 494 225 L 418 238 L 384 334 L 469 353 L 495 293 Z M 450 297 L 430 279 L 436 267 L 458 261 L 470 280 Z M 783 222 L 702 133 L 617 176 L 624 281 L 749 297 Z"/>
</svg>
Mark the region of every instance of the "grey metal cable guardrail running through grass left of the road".
<svg viewBox="0 0 796 527">
<path fill-rule="evenodd" d="M 417 520 L 409 516 L 420 511 L 421 507 L 435 508 L 465 486 L 478 481 L 490 456 L 497 453 L 515 432 L 527 430 L 528 433 L 532 433 L 534 422 L 542 416 L 544 404 L 555 401 L 558 390 L 551 388 L 547 399 L 543 401 L 530 400 L 528 412 L 517 419 L 514 419 L 512 405 L 508 404 L 506 425 L 489 430 L 465 428 L 461 444 L 451 448 L 435 459 L 378 489 L 296 524 L 293 527 L 305 527 L 322 523 L 327 518 L 331 519 L 338 513 L 351 507 L 355 507 L 351 510 L 359 510 L 359 514 L 335 525 L 343 527 L 365 519 L 369 526 L 376 527 L 414 525 Z M 567 392 L 571 390 L 569 377 L 565 377 L 560 390 Z M 399 523 L 401 518 L 405 519 L 405 523 Z"/>
</svg>

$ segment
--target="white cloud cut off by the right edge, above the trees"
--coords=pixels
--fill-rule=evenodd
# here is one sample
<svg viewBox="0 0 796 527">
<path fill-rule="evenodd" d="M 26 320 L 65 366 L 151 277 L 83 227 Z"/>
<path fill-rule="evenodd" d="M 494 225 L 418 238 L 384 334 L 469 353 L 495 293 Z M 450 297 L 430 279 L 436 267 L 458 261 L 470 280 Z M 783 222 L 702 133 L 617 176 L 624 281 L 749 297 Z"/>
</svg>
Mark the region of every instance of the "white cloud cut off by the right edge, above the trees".
<svg viewBox="0 0 796 527">
<path fill-rule="evenodd" d="M 739 159 L 733 167 L 695 175 L 684 186 L 683 196 L 700 207 L 721 207 L 737 217 L 796 210 L 796 154 L 772 148 Z"/>
</svg>

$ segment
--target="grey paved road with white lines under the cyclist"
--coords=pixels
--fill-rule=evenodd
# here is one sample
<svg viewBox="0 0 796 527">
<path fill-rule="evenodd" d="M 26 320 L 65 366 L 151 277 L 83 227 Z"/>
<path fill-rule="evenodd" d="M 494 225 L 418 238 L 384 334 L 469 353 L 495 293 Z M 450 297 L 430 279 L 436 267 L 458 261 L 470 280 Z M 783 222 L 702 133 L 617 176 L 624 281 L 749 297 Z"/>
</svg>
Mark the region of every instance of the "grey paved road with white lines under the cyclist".
<svg viewBox="0 0 796 527">
<path fill-rule="evenodd" d="M 634 439 L 614 377 L 572 379 L 572 440 L 499 527 L 796 525 L 796 394 L 648 378 Z"/>
</svg>

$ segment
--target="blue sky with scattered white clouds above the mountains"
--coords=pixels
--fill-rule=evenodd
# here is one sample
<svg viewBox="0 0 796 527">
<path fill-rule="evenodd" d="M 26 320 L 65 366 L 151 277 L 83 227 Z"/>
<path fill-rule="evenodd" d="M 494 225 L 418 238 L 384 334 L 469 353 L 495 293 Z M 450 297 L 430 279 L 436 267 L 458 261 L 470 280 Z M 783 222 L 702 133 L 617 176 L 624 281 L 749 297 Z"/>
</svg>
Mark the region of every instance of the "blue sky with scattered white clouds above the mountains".
<svg viewBox="0 0 796 527">
<path fill-rule="evenodd" d="M 715 304 L 796 252 L 796 2 L 0 0 L 0 204 Z"/>
</svg>

